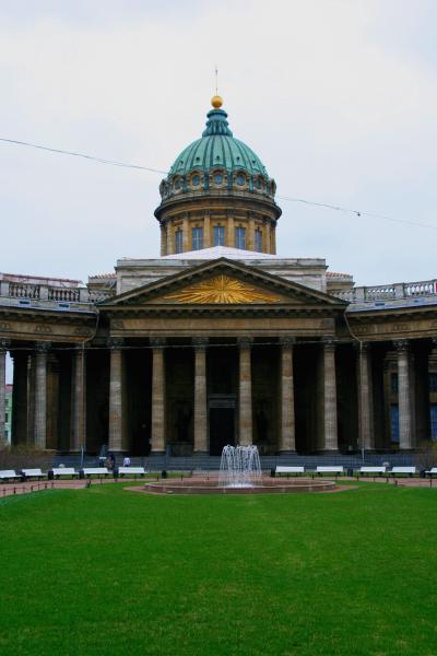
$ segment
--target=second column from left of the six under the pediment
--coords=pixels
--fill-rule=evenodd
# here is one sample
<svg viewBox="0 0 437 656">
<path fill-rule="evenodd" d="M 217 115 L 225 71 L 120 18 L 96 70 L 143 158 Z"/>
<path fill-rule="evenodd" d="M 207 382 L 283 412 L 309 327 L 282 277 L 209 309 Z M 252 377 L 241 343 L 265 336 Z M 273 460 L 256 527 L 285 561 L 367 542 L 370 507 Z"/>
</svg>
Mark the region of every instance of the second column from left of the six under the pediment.
<svg viewBox="0 0 437 656">
<path fill-rule="evenodd" d="M 152 361 L 152 454 L 165 453 L 165 340 L 151 340 Z"/>
</svg>

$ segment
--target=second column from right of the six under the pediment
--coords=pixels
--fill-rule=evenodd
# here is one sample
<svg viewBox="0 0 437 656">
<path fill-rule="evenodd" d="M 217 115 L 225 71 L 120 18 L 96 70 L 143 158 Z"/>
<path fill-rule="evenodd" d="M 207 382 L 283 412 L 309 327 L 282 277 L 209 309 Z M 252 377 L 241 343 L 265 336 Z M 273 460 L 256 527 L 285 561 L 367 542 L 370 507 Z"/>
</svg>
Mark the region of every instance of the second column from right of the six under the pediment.
<svg viewBox="0 0 437 656">
<path fill-rule="evenodd" d="M 281 453 L 296 450 L 292 337 L 281 339 Z"/>
</svg>

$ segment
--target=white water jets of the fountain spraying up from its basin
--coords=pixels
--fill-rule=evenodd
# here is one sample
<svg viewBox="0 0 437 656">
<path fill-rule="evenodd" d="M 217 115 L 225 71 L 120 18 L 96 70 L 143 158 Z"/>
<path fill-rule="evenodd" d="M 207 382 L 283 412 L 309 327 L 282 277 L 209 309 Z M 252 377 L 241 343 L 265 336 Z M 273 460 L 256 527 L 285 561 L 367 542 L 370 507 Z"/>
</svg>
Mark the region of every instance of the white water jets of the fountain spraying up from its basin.
<svg viewBox="0 0 437 656">
<path fill-rule="evenodd" d="M 261 484 L 261 462 L 258 447 L 223 447 L 220 462 L 218 485 L 225 488 L 253 488 Z"/>
</svg>

